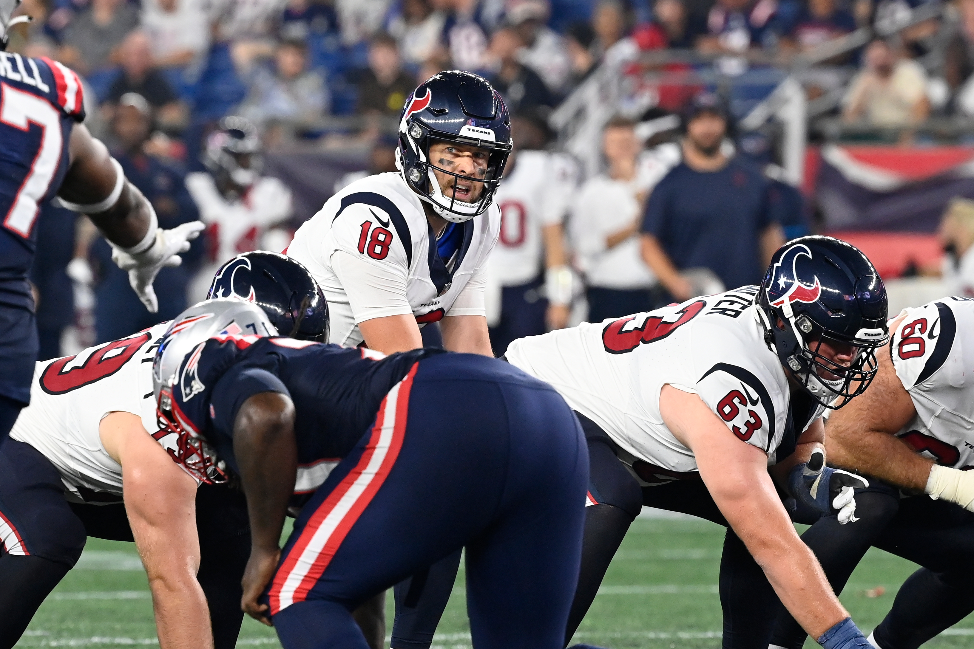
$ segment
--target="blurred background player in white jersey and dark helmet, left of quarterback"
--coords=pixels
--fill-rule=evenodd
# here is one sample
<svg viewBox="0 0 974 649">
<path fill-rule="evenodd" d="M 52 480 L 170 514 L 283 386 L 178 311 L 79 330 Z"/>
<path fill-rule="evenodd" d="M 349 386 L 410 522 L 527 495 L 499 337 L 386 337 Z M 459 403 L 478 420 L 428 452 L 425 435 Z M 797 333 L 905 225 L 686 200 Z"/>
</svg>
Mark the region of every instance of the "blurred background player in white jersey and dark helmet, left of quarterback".
<svg viewBox="0 0 974 649">
<path fill-rule="evenodd" d="M 291 216 L 291 191 L 261 175 L 262 151 L 256 126 L 243 117 L 225 117 L 206 137 L 206 171 L 186 175 L 186 189 L 206 224 L 207 257 L 187 289 L 191 303 L 204 299 L 213 273 L 234 256 L 272 247 L 264 243 L 268 229 Z"/>
</svg>

